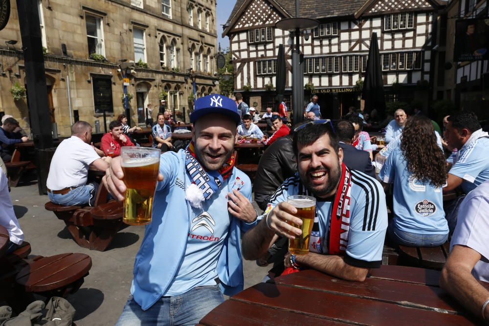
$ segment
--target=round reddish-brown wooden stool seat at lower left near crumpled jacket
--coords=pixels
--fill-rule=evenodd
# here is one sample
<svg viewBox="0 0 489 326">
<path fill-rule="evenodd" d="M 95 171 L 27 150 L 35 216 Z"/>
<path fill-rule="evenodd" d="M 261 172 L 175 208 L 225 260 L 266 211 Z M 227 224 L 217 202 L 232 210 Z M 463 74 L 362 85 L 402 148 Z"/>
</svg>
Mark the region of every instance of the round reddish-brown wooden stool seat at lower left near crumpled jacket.
<svg viewBox="0 0 489 326">
<path fill-rule="evenodd" d="M 25 292 L 50 298 L 66 297 L 76 292 L 89 275 L 91 258 L 85 254 L 66 253 L 43 257 L 22 268 L 16 282 Z"/>
</svg>

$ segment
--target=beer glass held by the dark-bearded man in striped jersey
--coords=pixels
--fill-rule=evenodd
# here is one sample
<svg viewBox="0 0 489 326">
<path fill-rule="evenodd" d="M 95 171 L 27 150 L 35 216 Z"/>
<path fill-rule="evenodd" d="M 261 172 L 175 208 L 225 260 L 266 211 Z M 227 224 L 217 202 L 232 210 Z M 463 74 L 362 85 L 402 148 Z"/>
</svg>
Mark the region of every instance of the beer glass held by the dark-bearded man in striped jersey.
<svg viewBox="0 0 489 326">
<path fill-rule="evenodd" d="M 295 195 L 287 197 L 287 202 L 297 209 L 295 216 L 302 220 L 302 225 L 289 223 L 302 230 L 300 236 L 295 236 L 295 239 L 289 239 L 289 252 L 294 255 L 306 255 L 309 252 L 309 236 L 311 235 L 312 225 L 314 224 L 316 198 Z"/>
</svg>

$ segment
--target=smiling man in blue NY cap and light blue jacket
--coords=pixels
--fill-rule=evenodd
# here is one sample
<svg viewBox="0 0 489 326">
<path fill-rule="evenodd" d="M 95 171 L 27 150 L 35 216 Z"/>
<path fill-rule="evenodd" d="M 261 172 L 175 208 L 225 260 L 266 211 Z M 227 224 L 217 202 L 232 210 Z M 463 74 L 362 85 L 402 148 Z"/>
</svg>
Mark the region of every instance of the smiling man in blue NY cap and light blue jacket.
<svg viewBox="0 0 489 326">
<path fill-rule="evenodd" d="M 241 232 L 256 224 L 251 182 L 234 167 L 240 116 L 233 100 L 212 94 L 195 102 L 192 141 L 161 155 L 152 222 L 136 255 L 121 325 L 195 325 L 243 290 Z M 120 158 L 104 184 L 124 198 Z"/>
</svg>

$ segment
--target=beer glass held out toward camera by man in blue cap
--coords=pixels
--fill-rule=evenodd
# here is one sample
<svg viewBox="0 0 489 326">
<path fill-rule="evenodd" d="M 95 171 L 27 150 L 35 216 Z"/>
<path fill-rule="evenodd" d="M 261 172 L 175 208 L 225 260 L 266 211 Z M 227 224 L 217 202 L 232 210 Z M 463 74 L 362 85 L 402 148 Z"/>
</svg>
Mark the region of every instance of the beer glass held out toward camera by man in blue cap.
<svg viewBox="0 0 489 326">
<path fill-rule="evenodd" d="M 123 181 L 127 187 L 122 219 L 124 223 L 144 225 L 151 222 L 160 155 L 158 148 L 121 148 Z"/>
</svg>

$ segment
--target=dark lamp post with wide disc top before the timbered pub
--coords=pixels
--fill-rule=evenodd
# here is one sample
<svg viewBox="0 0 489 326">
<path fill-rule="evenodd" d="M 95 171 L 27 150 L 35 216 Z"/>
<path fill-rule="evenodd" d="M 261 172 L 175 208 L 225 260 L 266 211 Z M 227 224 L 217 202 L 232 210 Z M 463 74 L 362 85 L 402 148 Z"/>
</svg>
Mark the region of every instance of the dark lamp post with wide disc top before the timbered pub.
<svg viewBox="0 0 489 326">
<path fill-rule="evenodd" d="M 294 123 L 304 120 L 304 70 L 300 60 L 300 36 L 302 31 L 316 28 L 319 22 L 315 19 L 299 17 L 299 0 L 295 0 L 294 18 L 286 18 L 278 21 L 275 27 L 284 31 L 289 31 L 292 36 L 292 102 Z"/>
</svg>

